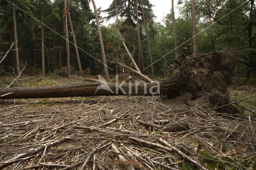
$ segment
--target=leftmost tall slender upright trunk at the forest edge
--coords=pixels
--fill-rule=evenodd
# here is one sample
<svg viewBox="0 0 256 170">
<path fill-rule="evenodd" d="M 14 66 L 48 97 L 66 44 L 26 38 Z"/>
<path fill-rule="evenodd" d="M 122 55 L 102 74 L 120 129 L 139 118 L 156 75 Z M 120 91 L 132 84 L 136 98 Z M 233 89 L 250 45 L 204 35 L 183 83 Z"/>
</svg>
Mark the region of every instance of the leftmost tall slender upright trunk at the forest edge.
<svg viewBox="0 0 256 170">
<path fill-rule="evenodd" d="M 16 61 L 16 74 L 20 75 L 20 61 L 18 52 L 18 38 L 17 38 L 17 26 L 16 26 L 16 12 L 15 6 L 12 5 L 12 16 L 13 16 L 13 31 L 14 31 L 14 45 L 15 45 L 15 61 Z"/>
</svg>

